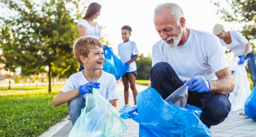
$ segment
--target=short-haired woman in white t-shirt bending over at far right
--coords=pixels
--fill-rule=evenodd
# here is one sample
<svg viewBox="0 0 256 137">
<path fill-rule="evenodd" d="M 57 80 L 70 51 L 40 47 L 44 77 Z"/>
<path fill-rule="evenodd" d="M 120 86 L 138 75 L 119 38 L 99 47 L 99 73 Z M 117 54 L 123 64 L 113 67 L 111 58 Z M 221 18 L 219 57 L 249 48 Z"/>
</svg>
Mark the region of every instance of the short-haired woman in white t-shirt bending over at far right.
<svg viewBox="0 0 256 137">
<path fill-rule="evenodd" d="M 255 54 L 250 46 L 249 41 L 242 36 L 238 31 L 224 31 L 224 26 L 217 24 L 213 28 L 213 34 L 219 37 L 220 43 L 223 46 L 231 49 L 235 56 L 239 56 L 240 60 L 238 64 L 244 64 L 245 59 L 248 60 L 249 72 L 251 73 L 251 79 L 256 85 L 256 63 Z"/>
</svg>

